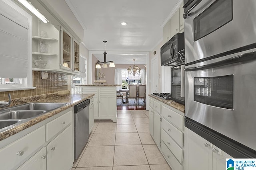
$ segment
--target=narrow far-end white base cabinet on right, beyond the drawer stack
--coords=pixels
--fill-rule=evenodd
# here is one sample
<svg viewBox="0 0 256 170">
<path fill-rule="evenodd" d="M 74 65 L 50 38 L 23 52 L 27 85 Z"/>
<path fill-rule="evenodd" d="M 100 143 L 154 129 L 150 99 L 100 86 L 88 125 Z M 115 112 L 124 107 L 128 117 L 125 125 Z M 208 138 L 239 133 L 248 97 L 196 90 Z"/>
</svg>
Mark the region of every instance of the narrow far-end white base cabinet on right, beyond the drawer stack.
<svg viewBox="0 0 256 170">
<path fill-rule="evenodd" d="M 149 98 L 149 131 L 158 148 L 161 147 L 161 104 Z M 153 109 L 154 108 L 154 109 Z"/>
</svg>

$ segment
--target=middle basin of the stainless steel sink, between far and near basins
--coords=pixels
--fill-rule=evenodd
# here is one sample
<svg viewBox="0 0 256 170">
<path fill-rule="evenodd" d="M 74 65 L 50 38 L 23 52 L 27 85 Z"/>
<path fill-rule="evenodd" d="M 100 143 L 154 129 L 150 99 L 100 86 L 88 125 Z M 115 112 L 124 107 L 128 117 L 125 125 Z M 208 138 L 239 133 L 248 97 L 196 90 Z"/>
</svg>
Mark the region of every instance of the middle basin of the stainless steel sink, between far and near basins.
<svg viewBox="0 0 256 170">
<path fill-rule="evenodd" d="M 0 114 L 0 120 L 5 119 L 28 119 L 46 113 L 46 110 L 18 110 L 18 111 L 6 111 Z"/>
</svg>

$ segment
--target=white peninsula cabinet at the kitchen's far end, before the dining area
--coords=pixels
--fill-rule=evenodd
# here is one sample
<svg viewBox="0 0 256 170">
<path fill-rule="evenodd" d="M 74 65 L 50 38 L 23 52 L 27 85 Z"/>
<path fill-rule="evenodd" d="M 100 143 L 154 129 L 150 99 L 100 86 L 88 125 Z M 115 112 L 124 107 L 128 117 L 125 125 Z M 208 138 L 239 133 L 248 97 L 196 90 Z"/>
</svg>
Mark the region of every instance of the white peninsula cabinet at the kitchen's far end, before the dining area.
<svg viewBox="0 0 256 170">
<path fill-rule="evenodd" d="M 82 93 L 95 94 L 94 119 L 117 121 L 115 86 L 83 86 Z"/>
</svg>

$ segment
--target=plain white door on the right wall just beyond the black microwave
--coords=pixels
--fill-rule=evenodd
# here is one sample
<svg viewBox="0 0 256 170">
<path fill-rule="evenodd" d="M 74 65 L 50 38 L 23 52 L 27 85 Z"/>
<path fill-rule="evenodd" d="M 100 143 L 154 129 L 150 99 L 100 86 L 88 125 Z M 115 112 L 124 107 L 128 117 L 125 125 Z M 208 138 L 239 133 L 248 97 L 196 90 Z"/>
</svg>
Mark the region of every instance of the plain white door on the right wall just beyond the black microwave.
<svg viewBox="0 0 256 170">
<path fill-rule="evenodd" d="M 151 60 L 151 92 L 158 92 L 158 57 Z"/>
</svg>

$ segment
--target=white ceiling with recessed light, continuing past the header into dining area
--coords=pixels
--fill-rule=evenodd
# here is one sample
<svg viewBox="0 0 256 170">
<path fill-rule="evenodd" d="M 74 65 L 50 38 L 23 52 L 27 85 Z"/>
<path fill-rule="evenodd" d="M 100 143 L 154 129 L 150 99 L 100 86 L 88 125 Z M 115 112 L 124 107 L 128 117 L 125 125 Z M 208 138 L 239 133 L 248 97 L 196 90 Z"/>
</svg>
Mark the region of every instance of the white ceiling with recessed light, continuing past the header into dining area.
<svg viewBox="0 0 256 170">
<path fill-rule="evenodd" d="M 180 0 L 66 0 L 84 27 L 83 43 L 88 50 L 151 51 L 163 37 L 163 23 Z M 121 25 L 126 21 L 126 26 Z M 100 61 L 103 59 L 103 54 Z M 110 57 L 116 57 L 111 58 Z M 110 56 L 114 63 L 139 62 L 145 55 Z M 137 58 L 134 58 L 137 57 Z M 121 59 L 121 60 L 120 60 Z M 120 61 L 119 61 L 120 60 Z M 123 62 L 123 63 L 122 63 Z M 135 61 L 136 62 L 136 61 Z M 145 58 L 146 62 L 146 58 Z M 144 63 L 145 63 L 144 62 Z M 136 62 L 137 63 L 137 62 Z M 139 64 L 139 63 L 138 63 Z"/>
</svg>

